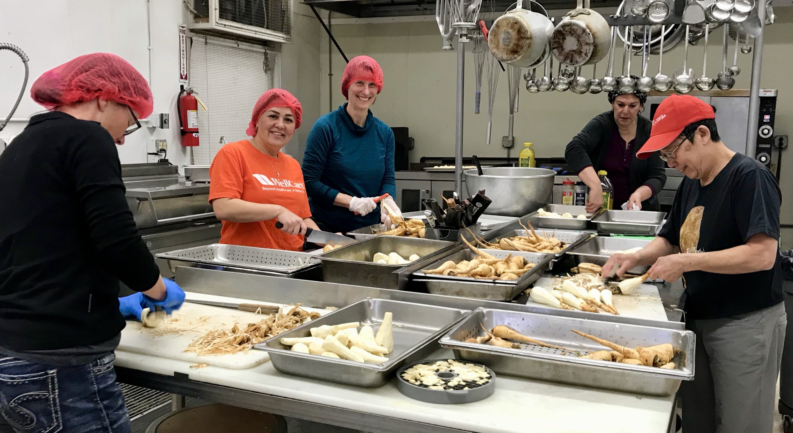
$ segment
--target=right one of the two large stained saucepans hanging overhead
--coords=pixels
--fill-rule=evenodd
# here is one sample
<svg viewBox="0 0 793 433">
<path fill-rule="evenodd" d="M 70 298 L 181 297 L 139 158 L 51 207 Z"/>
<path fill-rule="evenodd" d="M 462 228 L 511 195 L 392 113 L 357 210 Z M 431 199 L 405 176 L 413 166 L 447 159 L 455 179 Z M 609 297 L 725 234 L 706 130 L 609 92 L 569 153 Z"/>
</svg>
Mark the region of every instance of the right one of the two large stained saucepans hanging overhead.
<svg viewBox="0 0 793 433">
<path fill-rule="evenodd" d="M 611 29 L 606 19 L 588 6 L 584 8 L 582 0 L 578 0 L 577 8 L 569 11 L 554 29 L 550 46 L 561 63 L 579 67 L 598 63 L 608 55 Z"/>
</svg>

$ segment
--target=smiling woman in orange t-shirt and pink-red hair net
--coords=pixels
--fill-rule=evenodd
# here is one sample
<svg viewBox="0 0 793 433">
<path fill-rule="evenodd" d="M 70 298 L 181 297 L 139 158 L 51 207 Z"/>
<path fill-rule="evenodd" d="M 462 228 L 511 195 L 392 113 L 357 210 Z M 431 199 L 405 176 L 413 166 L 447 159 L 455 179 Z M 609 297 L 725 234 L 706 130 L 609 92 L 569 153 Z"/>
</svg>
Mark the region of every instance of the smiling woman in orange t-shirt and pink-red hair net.
<svg viewBox="0 0 793 433">
<path fill-rule="evenodd" d="M 209 202 L 223 221 L 220 243 L 302 251 L 306 228 L 317 228 L 300 163 L 281 152 L 302 114 L 292 94 L 267 90 L 245 131 L 252 138 L 217 152 L 209 167 Z M 284 224 L 280 230 L 277 221 Z"/>
</svg>

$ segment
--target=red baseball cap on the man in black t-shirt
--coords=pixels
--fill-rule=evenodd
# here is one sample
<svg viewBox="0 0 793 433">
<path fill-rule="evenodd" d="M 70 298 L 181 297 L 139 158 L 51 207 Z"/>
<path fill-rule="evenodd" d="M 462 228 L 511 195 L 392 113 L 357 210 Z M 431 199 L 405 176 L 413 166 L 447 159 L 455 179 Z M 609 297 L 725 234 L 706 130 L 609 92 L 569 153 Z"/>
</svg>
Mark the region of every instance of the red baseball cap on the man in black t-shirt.
<svg viewBox="0 0 793 433">
<path fill-rule="evenodd" d="M 687 94 L 672 94 L 655 110 L 649 139 L 636 152 L 636 156 L 638 159 L 647 159 L 654 151 L 660 151 L 672 143 L 688 125 L 715 118 L 713 107 L 702 99 Z"/>
</svg>

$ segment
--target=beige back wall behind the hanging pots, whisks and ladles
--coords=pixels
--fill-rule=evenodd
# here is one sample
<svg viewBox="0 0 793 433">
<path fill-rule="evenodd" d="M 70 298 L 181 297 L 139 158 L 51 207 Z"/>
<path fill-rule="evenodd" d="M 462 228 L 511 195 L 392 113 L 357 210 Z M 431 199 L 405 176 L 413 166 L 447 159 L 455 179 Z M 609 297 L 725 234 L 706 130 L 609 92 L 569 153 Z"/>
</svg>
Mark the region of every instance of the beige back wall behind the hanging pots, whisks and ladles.
<svg viewBox="0 0 793 433">
<path fill-rule="evenodd" d="M 793 138 L 793 98 L 790 97 L 790 76 L 793 71 L 793 8 L 777 8 L 777 22 L 768 27 L 764 45 L 761 86 L 779 89 L 776 105 L 776 134 Z M 345 20 L 350 21 L 350 20 Z M 342 21 L 342 22 L 345 22 Z M 407 126 L 416 139 L 411 160 L 421 156 L 454 155 L 454 117 L 456 90 L 456 52 L 441 50 L 441 38 L 435 21 L 378 22 L 376 24 L 336 24 L 333 34 L 347 57 L 358 55 L 377 59 L 385 72 L 383 92 L 372 107 L 374 115 L 391 126 Z M 715 77 L 721 67 L 722 29 L 711 33 L 708 49 L 708 75 Z M 323 34 L 322 49 L 323 93 L 321 105 L 328 106 L 328 52 L 333 63 L 332 104 L 344 102 L 339 90 L 345 66 L 335 50 L 328 50 L 327 36 Z M 730 40 L 730 63 L 734 43 Z M 481 114 L 473 113 L 474 74 L 473 55 L 466 53 L 465 71 L 465 132 L 464 155 L 504 156 L 501 136 L 507 135 L 508 93 L 507 75 L 501 73 L 496 105 L 493 113 L 492 141 L 485 144 L 487 125 L 487 77 L 483 81 Z M 615 61 L 615 75 L 622 71 L 622 55 Z M 667 75 L 683 65 L 682 44 L 664 56 Z M 631 72 L 638 75 L 639 67 L 634 57 Z M 688 66 L 696 75 L 701 74 L 703 41 L 689 47 Z M 737 77 L 735 89 L 748 89 L 751 75 L 751 56 L 738 54 L 742 72 Z M 598 64 L 599 75 L 606 71 L 606 61 Z M 657 56 L 650 59 L 648 71 L 657 71 Z M 584 68 L 584 76 L 592 75 L 592 67 Z M 521 80 L 522 84 L 525 84 Z M 534 143 L 538 156 L 564 156 L 565 145 L 589 119 L 610 109 L 607 96 L 601 94 L 573 94 L 571 91 L 530 94 L 525 88 L 519 94 L 519 113 L 515 114 L 515 144 Z M 725 137 L 734 143 L 745 142 L 745 136 Z M 515 151 L 512 155 L 515 156 Z M 793 224 L 793 151 L 783 153 L 783 174 L 780 185 L 783 192 L 782 223 Z M 783 236 L 783 246 L 793 247 L 793 229 Z"/>
</svg>

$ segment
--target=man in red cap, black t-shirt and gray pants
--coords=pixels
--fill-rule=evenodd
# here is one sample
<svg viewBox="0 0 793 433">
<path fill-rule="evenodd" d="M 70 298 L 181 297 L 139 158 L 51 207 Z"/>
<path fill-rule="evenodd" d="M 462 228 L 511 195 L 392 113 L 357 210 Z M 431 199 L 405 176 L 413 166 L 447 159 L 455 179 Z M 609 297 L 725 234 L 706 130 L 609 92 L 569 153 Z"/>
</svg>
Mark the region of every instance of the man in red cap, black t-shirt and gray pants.
<svg viewBox="0 0 793 433">
<path fill-rule="evenodd" d="M 649 278 L 684 277 L 695 380 L 683 384 L 683 431 L 772 431 L 787 324 L 780 280 L 780 187 L 756 160 L 722 143 L 711 105 L 666 98 L 638 151 L 685 174 L 668 221 L 647 247 L 615 254 L 603 274 L 653 265 Z"/>
</svg>

